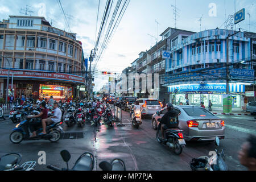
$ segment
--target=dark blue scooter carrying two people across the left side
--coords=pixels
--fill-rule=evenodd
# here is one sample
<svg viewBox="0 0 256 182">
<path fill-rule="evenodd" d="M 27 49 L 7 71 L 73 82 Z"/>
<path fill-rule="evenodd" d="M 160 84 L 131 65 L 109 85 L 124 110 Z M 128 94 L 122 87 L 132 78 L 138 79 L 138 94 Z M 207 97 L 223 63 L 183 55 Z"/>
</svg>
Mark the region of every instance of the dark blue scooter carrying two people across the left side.
<svg viewBox="0 0 256 182">
<path fill-rule="evenodd" d="M 39 114 L 39 113 L 38 113 Z M 35 119 L 35 120 L 34 120 Z M 62 122 L 51 123 L 46 127 L 45 135 L 39 135 L 42 133 L 43 129 L 40 127 L 36 131 L 36 137 L 30 138 L 30 131 L 28 126 L 30 125 L 31 121 L 41 122 L 38 118 L 27 118 L 24 121 L 20 122 L 18 125 L 15 126 L 13 132 L 10 134 L 10 140 L 13 143 L 20 143 L 22 140 L 50 140 L 51 142 L 57 142 L 60 139 L 61 131 L 63 128 L 60 126 Z"/>
</svg>

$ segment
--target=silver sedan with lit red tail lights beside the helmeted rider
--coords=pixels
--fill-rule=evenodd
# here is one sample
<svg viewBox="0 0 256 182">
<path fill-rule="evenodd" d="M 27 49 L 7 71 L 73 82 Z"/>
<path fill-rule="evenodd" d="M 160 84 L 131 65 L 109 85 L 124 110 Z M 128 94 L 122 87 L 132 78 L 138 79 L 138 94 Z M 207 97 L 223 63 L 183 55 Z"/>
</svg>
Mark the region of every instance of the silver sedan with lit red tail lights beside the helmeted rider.
<svg viewBox="0 0 256 182">
<path fill-rule="evenodd" d="M 184 139 L 214 140 L 216 137 L 225 138 L 225 123 L 216 115 L 199 106 L 175 105 L 179 113 L 179 128 L 183 130 Z M 152 115 L 152 127 L 156 130 L 158 118 L 167 113 L 167 107 Z"/>
</svg>

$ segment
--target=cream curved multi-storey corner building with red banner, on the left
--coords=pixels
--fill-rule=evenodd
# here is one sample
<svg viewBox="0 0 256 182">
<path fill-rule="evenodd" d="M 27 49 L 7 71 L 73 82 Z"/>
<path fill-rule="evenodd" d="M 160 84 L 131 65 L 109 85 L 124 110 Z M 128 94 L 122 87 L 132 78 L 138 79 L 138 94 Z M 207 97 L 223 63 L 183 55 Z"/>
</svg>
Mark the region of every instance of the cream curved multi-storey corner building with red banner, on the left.
<svg viewBox="0 0 256 182">
<path fill-rule="evenodd" d="M 81 44 L 76 34 L 52 27 L 44 17 L 10 16 L 3 20 L 0 97 L 5 98 L 8 73 L 9 94 L 14 97 L 32 94 L 34 98 L 61 100 L 79 96 L 77 88 L 85 84 Z"/>
</svg>

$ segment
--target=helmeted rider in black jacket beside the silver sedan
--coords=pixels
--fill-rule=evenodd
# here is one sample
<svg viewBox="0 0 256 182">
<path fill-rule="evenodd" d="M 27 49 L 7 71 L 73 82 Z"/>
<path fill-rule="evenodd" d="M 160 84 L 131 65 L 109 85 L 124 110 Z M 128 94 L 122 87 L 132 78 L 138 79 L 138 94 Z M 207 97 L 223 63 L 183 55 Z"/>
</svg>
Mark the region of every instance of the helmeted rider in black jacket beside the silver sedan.
<svg viewBox="0 0 256 182">
<path fill-rule="evenodd" d="M 163 117 L 160 120 L 160 123 L 162 123 L 161 125 L 161 133 L 162 133 L 162 140 L 165 141 L 166 137 L 164 134 L 164 131 L 167 129 L 171 129 L 171 128 L 177 128 L 179 125 L 179 120 L 178 120 L 178 113 L 174 110 L 174 105 L 172 105 L 171 103 L 168 103 L 167 105 L 167 113 L 163 115 Z M 176 127 L 174 127 L 173 125 L 171 125 L 171 122 L 173 122 L 172 119 L 176 118 L 177 120 L 177 125 Z"/>
</svg>

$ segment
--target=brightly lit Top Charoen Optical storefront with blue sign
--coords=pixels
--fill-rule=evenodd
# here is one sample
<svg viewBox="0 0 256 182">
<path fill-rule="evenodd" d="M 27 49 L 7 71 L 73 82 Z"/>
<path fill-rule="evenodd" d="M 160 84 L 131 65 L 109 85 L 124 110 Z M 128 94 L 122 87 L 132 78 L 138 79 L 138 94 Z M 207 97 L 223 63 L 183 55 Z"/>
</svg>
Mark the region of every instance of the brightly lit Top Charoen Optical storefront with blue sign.
<svg viewBox="0 0 256 182">
<path fill-rule="evenodd" d="M 177 93 L 175 93 L 177 89 Z M 226 94 L 226 84 L 186 84 L 168 86 L 170 93 L 170 101 L 172 104 L 185 104 L 189 101 L 189 105 L 200 106 L 200 102 L 204 102 L 208 107 L 209 100 L 213 107 L 222 107 L 222 97 Z M 233 98 L 233 108 L 241 108 L 244 102 L 245 85 L 229 84 L 229 94 Z"/>
</svg>

